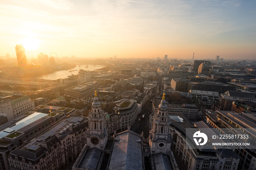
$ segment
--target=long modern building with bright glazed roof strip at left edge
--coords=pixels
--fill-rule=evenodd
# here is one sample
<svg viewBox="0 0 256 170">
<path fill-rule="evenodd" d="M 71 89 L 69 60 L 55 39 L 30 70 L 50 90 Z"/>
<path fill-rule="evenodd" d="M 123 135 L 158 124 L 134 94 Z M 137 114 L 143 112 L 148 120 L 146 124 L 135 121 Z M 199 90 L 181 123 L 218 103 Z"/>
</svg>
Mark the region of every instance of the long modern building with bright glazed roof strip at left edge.
<svg viewBox="0 0 256 170">
<path fill-rule="evenodd" d="M 53 113 L 54 114 L 54 113 Z M 48 128 L 60 120 L 64 114 L 56 113 L 49 116 L 46 113 L 27 112 L 0 126 L 0 169 L 8 170 L 8 155 L 26 140 L 34 137 L 38 132 Z"/>
</svg>

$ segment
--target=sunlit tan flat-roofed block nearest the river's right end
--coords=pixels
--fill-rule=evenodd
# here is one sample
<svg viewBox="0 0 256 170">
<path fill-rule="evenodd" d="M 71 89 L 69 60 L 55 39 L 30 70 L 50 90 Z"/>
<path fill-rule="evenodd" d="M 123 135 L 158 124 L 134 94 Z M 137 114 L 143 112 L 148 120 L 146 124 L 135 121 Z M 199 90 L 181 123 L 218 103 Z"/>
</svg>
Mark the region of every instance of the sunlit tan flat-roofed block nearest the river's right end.
<svg viewBox="0 0 256 170">
<path fill-rule="evenodd" d="M 94 93 L 100 87 L 100 83 L 97 81 L 80 83 L 78 86 L 72 86 L 65 89 L 65 95 L 76 97 L 78 99 L 82 97 L 88 97 Z"/>
</svg>

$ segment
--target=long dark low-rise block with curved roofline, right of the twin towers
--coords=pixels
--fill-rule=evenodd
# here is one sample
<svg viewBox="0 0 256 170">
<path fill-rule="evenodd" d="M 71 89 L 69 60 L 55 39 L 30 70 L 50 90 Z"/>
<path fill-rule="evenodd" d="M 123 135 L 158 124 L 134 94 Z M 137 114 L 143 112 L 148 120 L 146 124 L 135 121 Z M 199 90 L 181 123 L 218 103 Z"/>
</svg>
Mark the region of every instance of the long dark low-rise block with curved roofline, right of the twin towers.
<svg viewBox="0 0 256 170">
<path fill-rule="evenodd" d="M 220 83 L 220 82 L 212 82 L 212 81 L 204 81 L 204 82 L 189 82 L 187 90 L 203 90 L 203 91 L 211 91 L 211 92 L 219 92 L 224 93 L 226 91 L 235 91 L 236 87 Z"/>
</svg>

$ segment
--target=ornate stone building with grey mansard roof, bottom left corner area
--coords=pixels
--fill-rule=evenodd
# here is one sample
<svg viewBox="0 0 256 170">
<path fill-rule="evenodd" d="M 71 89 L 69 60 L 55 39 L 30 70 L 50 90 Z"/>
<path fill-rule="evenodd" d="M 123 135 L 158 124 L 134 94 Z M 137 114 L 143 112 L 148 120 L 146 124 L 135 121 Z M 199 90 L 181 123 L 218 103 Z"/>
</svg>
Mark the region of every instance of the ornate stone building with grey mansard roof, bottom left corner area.
<svg viewBox="0 0 256 170">
<path fill-rule="evenodd" d="M 79 155 L 85 141 L 87 121 L 69 117 L 50 131 L 10 152 L 10 170 L 62 169 Z"/>
</svg>

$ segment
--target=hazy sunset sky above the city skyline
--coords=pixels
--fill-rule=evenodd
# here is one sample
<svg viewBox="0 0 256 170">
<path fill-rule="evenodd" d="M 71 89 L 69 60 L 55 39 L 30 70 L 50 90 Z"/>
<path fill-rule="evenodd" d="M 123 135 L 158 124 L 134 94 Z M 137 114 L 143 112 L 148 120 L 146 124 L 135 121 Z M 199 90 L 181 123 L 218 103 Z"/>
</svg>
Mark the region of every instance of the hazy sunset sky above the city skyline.
<svg viewBox="0 0 256 170">
<path fill-rule="evenodd" d="M 0 56 L 256 59 L 255 0 L 0 0 Z"/>
</svg>

